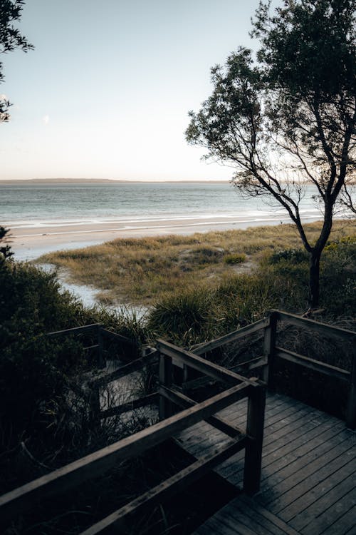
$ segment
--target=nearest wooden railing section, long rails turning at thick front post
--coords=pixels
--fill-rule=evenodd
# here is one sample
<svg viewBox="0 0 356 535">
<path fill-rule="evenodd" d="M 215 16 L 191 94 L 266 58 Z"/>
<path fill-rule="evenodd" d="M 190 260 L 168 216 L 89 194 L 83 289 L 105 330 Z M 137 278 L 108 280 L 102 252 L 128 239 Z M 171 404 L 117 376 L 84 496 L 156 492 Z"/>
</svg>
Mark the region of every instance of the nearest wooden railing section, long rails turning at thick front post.
<svg viewBox="0 0 356 535">
<path fill-rule="evenodd" d="M 162 407 L 164 407 L 166 414 L 164 419 L 157 424 L 4 494 L 4 496 L 0 497 L 0 514 L 2 518 L 9 519 L 15 514 L 19 516 L 19 514 L 31 509 L 38 500 L 63 494 L 63 492 L 82 484 L 88 479 L 99 477 L 110 471 L 117 462 L 140 455 L 147 449 L 161 444 L 165 440 L 172 438 L 174 434 L 182 432 L 187 427 L 191 427 L 202 420 L 208 421 L 226 433 L 230 437 L 229 444 L 224 445 L 213 454 L 197 459 L 187 469 L 183 469 L 174 477 L 167 479 L 155 489 L 151 489 L 148 493 L 115 511 L 83 533 L 85 535 L 93 535 L 103 531 L 111 524 L 120 524 L 120 521 L 127 514 L 140 509 L 142 504 L 152 503 L 157 499 L 162 500 L 167 496 L 171 496 L 174 492 L 199 479 L 199 477 L 241 449 L 245 449 L 244 488 L 249 494 L 253 494 L 258 490 L 261 474 L 263 418 L 266 400 L 265 385 L 256 378 L 246 379 L 240 374 L 224 370 L 218 365 L 204 361 L 199 355 L 180 350 L 163 340 L 159 341 L 158 347 L 159 376 L 161 379 L 160 398 L 164 399 L 164 402 L 174 403 L 179 407 L 183 406 L 183 409 L 177 414 L 172 414 L 171 411 L 168 415 L 167 406 L 161 404 L 161 416 Z M 152 353 L 145 358 L 148 360 L 151 357 Z M 209 374 L 214 379 L 227 383 L 229 385 L 228 389 L 203 402 L 194 402 L 193 399 L 189 399 L 184 394 L 174 390 L 172 374 L 169 375 L 169 370 L 172 372 L 172 357 L 174 357 L 174 360 L 180 360 L 185 365 Z M 132 366 L 130 368 L 126 367 L 125 371 L 128 369 L 132 370 Z M 116 378 L 117 374 L 115 376 L 110 374 L 110 380 L 115 380 Z M 103 384 L 102 379 L 100 379 L 97 386 L 101 384 Z M 216 412 L 228 407 L 242 397 L 248 397 L 246 433 L 224 419 L 214 416 Z M 140 402 L 138 403 L 140 404 Z M 130 409 L 130 407 L 128 408 Z M 109 415 L 111 414 L 107 414 L 107 416 Z"/>
</svg>

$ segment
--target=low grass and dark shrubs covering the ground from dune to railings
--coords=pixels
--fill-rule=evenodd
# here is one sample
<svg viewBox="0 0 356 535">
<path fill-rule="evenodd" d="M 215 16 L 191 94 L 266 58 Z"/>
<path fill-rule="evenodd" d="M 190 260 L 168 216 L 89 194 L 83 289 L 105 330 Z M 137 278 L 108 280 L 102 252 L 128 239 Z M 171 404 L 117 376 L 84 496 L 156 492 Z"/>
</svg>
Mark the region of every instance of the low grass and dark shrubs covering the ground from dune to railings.
<svg viewBox="0 0 356 535">
<path fill-rule="evenodd" d="M 308 225 L 310 239 L 318 234 L 318 225 Z M 355 235 L 354 221 L 335 222 L 321 263 L 323 309 L 318 317 L 349 328 L 355 310 Z M 85 397 L 76 387 L 96 367 L 90 353 L 83 351 L 93 340 L 49 340 L 46 333 L 100 322 L 136 340 L 139 355 L 140 345 L 155 345 L 157 337 L 189 348 L 258 320 L 271 308 L 300 313 L 308 303 L 308 255 L 298 248 L 293 225 L 115 240 L 42 259 L 66 267 L 78 282 L 98 285 L 110 304 L 146 305 L 143 316 L 130 305 L 122 313 L 83 307 L 61 290 L 55 272 L 12 260 L 5 240 L 6 232 L 0 263 L 5 466 L 14 455 L 23 458 L 23 447 L 33 457 L 46 459 L 46 466 L 56 467 L 103 440 L 110 442 L 103 431 L 101 437 L 89 433 L 88 438 Z M 145 389 L 145 378 L 141 388 Z M 28 477 L 22 464 L 19 474 L 11 474 L 14 481 Z M 31 472 L 33 463 L 29 464 Z"/>
</svg>

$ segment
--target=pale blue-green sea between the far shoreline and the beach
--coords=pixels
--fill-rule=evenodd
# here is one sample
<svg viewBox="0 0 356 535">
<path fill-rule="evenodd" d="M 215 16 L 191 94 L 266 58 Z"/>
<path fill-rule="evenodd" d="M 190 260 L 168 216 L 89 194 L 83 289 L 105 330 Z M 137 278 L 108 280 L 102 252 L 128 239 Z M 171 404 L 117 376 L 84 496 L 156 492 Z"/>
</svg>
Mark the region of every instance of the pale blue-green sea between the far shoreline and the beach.
<svg viewBox="0 0 356 535">
<path fill-rule="evenodd" d="M 301 204 L 304 220 L 320 218 L 308 187 Z M 161 220 L 234 218 L 244 223 L 288 219 L 281 206 L 241 198 L 229 183 L 43 183 L 0 184 L 0 225 L 21 229 L 105 223 L 130 228 Z"/>
</svg>

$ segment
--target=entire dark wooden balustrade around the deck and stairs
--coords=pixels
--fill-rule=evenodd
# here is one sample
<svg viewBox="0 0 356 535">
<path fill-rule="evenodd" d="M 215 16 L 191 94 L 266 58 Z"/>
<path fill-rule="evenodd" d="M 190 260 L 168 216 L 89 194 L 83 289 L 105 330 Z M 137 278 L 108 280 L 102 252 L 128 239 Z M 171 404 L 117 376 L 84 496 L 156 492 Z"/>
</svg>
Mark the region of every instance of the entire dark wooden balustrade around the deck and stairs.
<svg viewBox="0 0 356 535">
<path fill-rule="evenodd" d="M 344 370 L 340 367 L 329 365 L 319 360 L 311 359 L 304 355 L 292 352 L 286 348 L 276 345 L 276 335 L 278 334 L 278 322 L 288 322 L 297 327 L 304 327 L 320 335 L 336 337 L 340 340 L 355 342 L 356 333 L 350 330 L 340 329 L 313 320 L 307 320 L 302 317 L 280 312 L 271 311 L 271 314 L 252 325 L 236 330 L 229 335 L 225 335 L 216 340 L 211 340 L 194 348 L 193 351 L 183 350 L 164 340 L 158 340 L 157 350 L 149 348 L 149 352 L 137 360 L 120 367 L 110 374 L 101 374 L 100 377 L 90 382 L 92 396 L 90 397 L 91 417 L 95 425 L 99 425 L 104 418 L 112 417 L 115 414 L 121 414 L 136 407 L 142 407 L 145 404 L 152 403 L 159 397 L 159 417 L 161 419 L 155 425 L 133 434 L 115 444 L 100 449 L 78 461 L 72 462 L 61 469 L 50 474 L 31 481 L 14 491 L 10 491 L 0 496 L 0 514 L 2 519 L 10 519 L 11 516 L 19 516 L 28 509 L 31 509 L 36 501 L 48 496 L 63 494 L 66 490 L 82 484 L 83 481 L 93 477 L 100 477 L 118 461 L 135 457 L 145 452 L 150 447 L 164 442 L 164 440 L 173 437 L 174 434 L 181 432 L 183 429 L 197 424 L 202 420 L 216 427 L 220 431 L 232 438 L 233 442 L 228 446 L 221 448 L 218 452 L 208 455 L 202 459 L 197 459 L 187 469 L 182 470 L 173 477 L 163 481 L 155 489 L 151 489 L 145 495 L 130 502 L 126 506 L 114 511 L 108 517 L 98 522 L 94 526 L 83 532 L 82 535 L 94 535 L 103 531 L 108 526 L 120 526 L 122 519 L 137 511 L 142 504 L 155 503 L 167 499 L 175 492 L 199 479 L 203 474 L 216 467 L 223 460 L 241 449 L 245 449 L 244 463 L 244 490 L 248 494 L 253 494 L 259 489 L 261 477 L 261 457 L 263 443 L 263 423 L 266 403 L 266 387 L 273 374 L 273 365 L 276 359 L 286 360 L 296 363 L 300 366 L 307 367 L 310 370 L 317 371 L 342 380 L 348 387 L 348 402 L 346 411 L 346 423 L 348 427 L 356 427 L 356 355 L 355 344 L 352 355 L 351 370 Z M 126 344 L 135 344 L 132 340 L 112 333 L 103 328 L 100 324 L 87 325 L 85 327 L 75 327 L 66 331 L 51 332 L 48 336 L 54 337 L 64 334 L 83 334 L 85 332 L 96 332 L 98 337 L 98 364 L 103 365 L 105 337 L 112 340 L 120 341 Z M 227 370 L 224 367 L 216 365 L 205 360 L 200 355 L 215 350 L 227 343 L 236 342 L 241 337 L 251 335 L 253 332 L 261 331 L 263 335 L 263 355 L 255 357 L 246 362 L 240 363 L 233 370 Z M 109 382 L 115 381 L 120 377 L 140 368 L 157 362 L 159 357 L 159 392 L 149 394 L 133 402 L 127 402 L 119 407 L 112 407 L 105 411 L 100 408 L 100 389 Z M 204 374 L 208 380 L 219 381 L 228 385 L 227 389 L 213 397 L 206 399 L 204 402 L 196 402 L 188 397 L 174 385 L 174 366 L 182 367 L 184 370 L 184 384 L 194 385 L 194 381 L 187 381 L 187 370 L 193 369 Z M 258 367 L 262 368 L 262 379 L 246 378 L 244 371 L 252 370 Z M 182 386 L 182 385 L 181 385 Z M 184 386 L 184 385 L 183 385 Z M 234 427 L 224 418 L 216 416 L 216 413 L 224 409 L 229 404 L 236 402 L 242 397 L 248 398 L 247 424 L 246 433 L 241 429 Z M 180 412 L 174 413 L 174 407 L 179 407 Z"/>
</svg>

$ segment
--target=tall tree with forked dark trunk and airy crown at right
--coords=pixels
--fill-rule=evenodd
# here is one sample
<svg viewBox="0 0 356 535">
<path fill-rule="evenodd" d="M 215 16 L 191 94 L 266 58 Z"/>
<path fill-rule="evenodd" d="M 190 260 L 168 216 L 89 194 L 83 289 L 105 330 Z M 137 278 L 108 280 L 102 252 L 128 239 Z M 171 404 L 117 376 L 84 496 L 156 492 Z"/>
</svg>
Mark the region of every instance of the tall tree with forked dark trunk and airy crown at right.
<svg viewBox="0 0 356 535">
<path fill-rule="evenodd" d="M 282 205 L 310 256 L 310 308 L 319 302 L 320 256 L 340 192 L 355 180 L 356 0 L 260 2 L 251 36 L 256 57 L 239 48 L 211 69 L 214 90 L 189 112 L 189 143 L 229 163 L 241 193 Z M 305 185 L 323 212 L 310 243 L 300 217 Z"/>
</svg>

